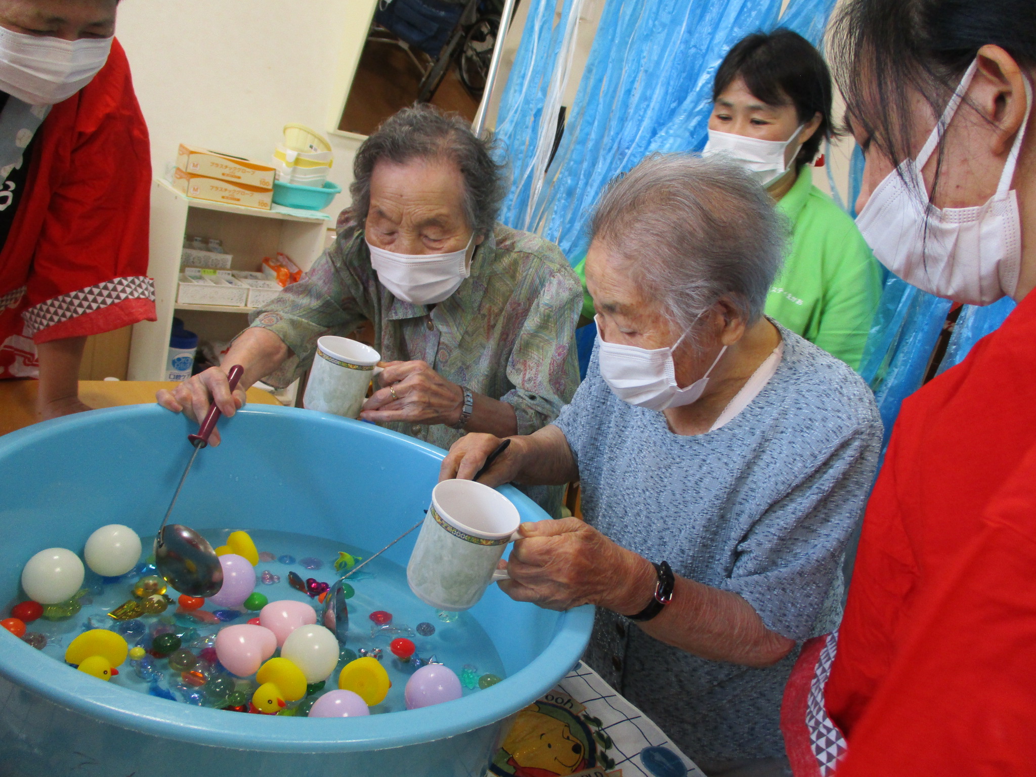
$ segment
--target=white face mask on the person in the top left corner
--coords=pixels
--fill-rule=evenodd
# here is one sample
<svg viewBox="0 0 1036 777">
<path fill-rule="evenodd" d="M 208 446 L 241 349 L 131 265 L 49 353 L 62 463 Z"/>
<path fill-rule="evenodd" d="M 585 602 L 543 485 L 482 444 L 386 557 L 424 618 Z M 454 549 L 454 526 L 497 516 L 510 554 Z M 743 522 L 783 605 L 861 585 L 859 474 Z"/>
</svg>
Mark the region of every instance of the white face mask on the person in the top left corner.
<svg viewBox="0 0 1036 777">
<path fill-rule="evenodd" d="M 0 89 L 30 106 L 67 99 L 108 61 L 112 38 L 26 35 L 0 27 Z"/>
</svg>

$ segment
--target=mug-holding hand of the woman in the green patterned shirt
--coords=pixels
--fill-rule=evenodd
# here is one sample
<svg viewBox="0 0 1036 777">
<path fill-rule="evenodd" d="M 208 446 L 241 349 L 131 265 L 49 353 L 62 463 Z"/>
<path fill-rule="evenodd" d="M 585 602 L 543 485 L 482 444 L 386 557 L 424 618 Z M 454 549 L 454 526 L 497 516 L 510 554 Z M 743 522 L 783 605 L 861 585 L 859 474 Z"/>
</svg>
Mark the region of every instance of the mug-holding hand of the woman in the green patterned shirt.
<svg viewBox="0 0 1036 777">
<path fill-rule="evenodd" d="M 456 424 L 464 405 L 464 392 L 439 375 L 427 362 L 387 362 L 374 392 L 361 408 L 359 418 L 384 424 L 405 421 L 420 424 Z M 395 392 L 395 397 L 393 393 Z"/>
</svg>

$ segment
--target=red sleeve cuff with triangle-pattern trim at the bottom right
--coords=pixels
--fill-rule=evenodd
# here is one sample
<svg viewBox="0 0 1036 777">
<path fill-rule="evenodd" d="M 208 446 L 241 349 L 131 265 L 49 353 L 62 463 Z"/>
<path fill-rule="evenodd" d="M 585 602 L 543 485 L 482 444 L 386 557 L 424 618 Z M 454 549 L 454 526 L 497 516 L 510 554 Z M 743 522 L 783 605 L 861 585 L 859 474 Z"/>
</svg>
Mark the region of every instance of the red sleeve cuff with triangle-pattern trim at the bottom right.
<svg viewBox="0 0 1036 777">
<path fill-rule="evenodd" d="M 830 777 L 845 757 L 845 738 L 825 707 L 838 632 L 806 640 L 781 702 L 781 731 L 795 777 Z"/>
</svg>

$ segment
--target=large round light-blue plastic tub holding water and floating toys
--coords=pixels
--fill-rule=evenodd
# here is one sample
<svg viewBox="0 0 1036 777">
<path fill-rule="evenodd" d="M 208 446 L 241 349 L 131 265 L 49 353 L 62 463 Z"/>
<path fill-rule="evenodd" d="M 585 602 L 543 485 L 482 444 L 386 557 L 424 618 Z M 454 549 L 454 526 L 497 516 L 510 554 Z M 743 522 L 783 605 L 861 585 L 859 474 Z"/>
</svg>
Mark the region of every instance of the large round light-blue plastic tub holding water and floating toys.
<svg viewBox="0 0 1036 777">
<path fill-rule="evenodd" d="M 4 614 L 36 551 L 81 552 L 106 523 L 152 535 L 194 428 L 138 405 L 0 437 Z M 379 548 L 426 509 L 443 456 L 410 437 L 310 410 L 250 407 L 221 428 L 223 444 L 199 454 L 177 502 L 189 525 L 281 528 Z M 517 490 L 501 490 L 523 520 L 546 518 Z M 405 566 L 413 538 L 387 557 Z M 471 613 L 496 644 L 503 682 L 437 707 L 349 719 L 241 715 L 135 693 L 0 629 L 0 773 L 481 777 L 511 717 L 579 659 L 594 613 L 520 604 L 495 585 Z"/>
</svg>

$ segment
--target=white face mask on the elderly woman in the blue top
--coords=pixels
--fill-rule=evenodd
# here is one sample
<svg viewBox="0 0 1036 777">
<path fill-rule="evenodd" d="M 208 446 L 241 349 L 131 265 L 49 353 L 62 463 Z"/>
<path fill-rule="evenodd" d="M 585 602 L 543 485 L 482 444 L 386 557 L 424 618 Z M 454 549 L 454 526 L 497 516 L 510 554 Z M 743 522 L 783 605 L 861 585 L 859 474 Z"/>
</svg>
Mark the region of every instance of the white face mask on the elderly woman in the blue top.
<svg viewBox="0 0 1036 777">
<path fill-rule="evenodd" d="M 686 388 L 677 385 L 677 366 L 672 352 L 680 346 L 685 332 L 672 346 L 638 348 L 635 345 L 608 343 L 601 339 L 601 317 L 595 316 L 597 340 L 600 343 L 598 366 L 601 377 L 615 396 L 634 407 L 665 410 L 697 402 L 709 383 L 709 375 L 726 352 L 724 345 L 706 374 Z"/>
</svg>

